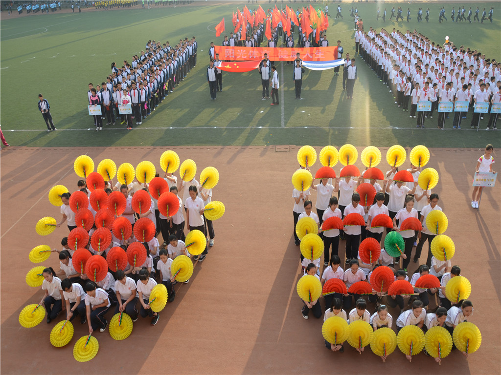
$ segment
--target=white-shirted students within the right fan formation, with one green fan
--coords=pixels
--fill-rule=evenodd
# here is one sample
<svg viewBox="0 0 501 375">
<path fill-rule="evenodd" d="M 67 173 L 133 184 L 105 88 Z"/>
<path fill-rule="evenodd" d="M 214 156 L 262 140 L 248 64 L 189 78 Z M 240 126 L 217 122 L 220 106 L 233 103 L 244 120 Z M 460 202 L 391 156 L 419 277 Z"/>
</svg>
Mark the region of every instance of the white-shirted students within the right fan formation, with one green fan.
<svg viewBox="0 0 501 375">
<path fill-rule="evenodd" d="M 435 235 L 426 227 L 426 217 L 432 210 L 442 210 L 438 206 L 438 194 L 423 190 L 417 183 L 420 168 L 410 165 L 407 169 L 414 177 L 415 182 L 403 183 L 392 181 L 392 177 L 397 172 L 397 168 L 391 168 L 386 172 L 386 179 L 383 186 L 375 180 L 370 179 L 366 182 L 372 184 L 376 190 L 376 196 L 373 204 L 362 206 L 360 204 L 360 195 L 355 189 L 364 181 L 362 177 L 358 180 L 352 177 L 336 178 L 329 182 L 328 178 L 322 178 L 317 185 L 312 185 L 312 189 L 317 192 L 316 211 L 312 211 L 313 203 L 309 199 L 310 190 L 301 192 L 293 190 L 294 204 L 294 222 L 302 217 L 312 217 L 319 226 L 319 234 L 324 241 L 324 267 L 322 271 L 321 258 L 307 259 L 301 255 L 301 265 L 303 275 L 314 275 L 322 285 L 331 278 L 341 279 L 346 287 L 349 288 L 355 282 L 370 280 L 372 271 L 379 266 L 389 266 L 393 269 L 395 280 L 407 280 L 409 276 L 407 267 L 412 258 L 413 247 L 417 245 L 413 262 L 419 262 L 421 250 L 425 241 L 428 241 L 428 255 L 426 262 L 419 265 L 410 277 L 410 283 L 415 285 L 418 278 L 425 274 L 433 274 L 440 280 L 439 288 L 417 288 L 414 287 L 416 295 L 385 295 L 383 292 L 373 290 L 373 294 L 367 297 L 369 302 L 375 303 L 375 312 L 371 315 L 367 311 L 367 301 L 360 294 L 332 293 L 325 295 L 325 313 L 324 320 L 331 316 L 341 316 L 348 322 L 356 320 L 365 320 L 369 322 L 374 330 L 381 327 L 392 328 L 393 318 L 389 313 L 388 306 L 397 308 L 398 318 L 396 319 L 396 329 L 412 324 L 417 325 L 424 330 L 432 326 L 440 325 L 445 327 L 451 334 L 454 327 L 473 312 L 472 303 L 469 300 L 460 300 L 452 305 L 445 295 L 447 282 L 455 276 L 460 275 L 461 269 L 458 265 L 452 265 L 450 259 L 446 261 L 435 258 L 431 253 L 431 241 Z M 338 193 L 339 199 L 333 196 Z M 402 208 L 403 207 L 403 208 Z M 321 224 L 329 217 L 337 216 L 343 218 L 345 215 L 358 212 L 364 216 L 366 226 L 349 225 L 344 226 L 344 230 L 331 229 L 322 232 Z M 419 218 L 422 222 L 422 230 L 400 231 L 404 238 L 404 252 L 400 255 L 402 258 L 402 268 L 398 268 L 399 258 L 390 256 L 384 248 L 381 248 L 381 254 L 378 259 L 374 259 L 371 264 L 365 263 L 359 253 L 360 241 L 366 237 L 375 238 L 381 243 L 383 239 L 382 227 L 371 227 L 371 220 L 378 214 L 389 215 L 393 220 L 391 230 L 400 231 L 401 223 L 408 217 Z M 296 231 L 296 244 L 299 244 L 299 238 Z M 419 238 L 419 239 L 418 239 Z M 341 266 L 341 258 L 338 254 L 339 241 L 346 240 L 346 260 L 345 267 Z M 419 243 L 416 241 L 419 240 Z M 440 302 L 434 308 L 429 308 L 429 295 L 436 295 Z M 409 298 L 408 298 L 409 297 Z M 386 298 L 386 301 L 383 301 Z M 355 301 L 355 308 L 352 303 Z M 322 316 L 322 307 L 320 300 L 303 300 L 302 316 L 308 319 L 309 312 L 312 310 L 313 316 L 320 318 Z M 344 351 L 343 344 L 331 344 L 325 341 L 326 347 L 333 351 Z M 363 348 L 357 349 L 363 351 Z M 466 353 L 464 353 L 466 354 Z M 386 359 L 386 358 L 383 358 Z M 439 360 L 439 358 L 437 358 Z"/>
</svg>

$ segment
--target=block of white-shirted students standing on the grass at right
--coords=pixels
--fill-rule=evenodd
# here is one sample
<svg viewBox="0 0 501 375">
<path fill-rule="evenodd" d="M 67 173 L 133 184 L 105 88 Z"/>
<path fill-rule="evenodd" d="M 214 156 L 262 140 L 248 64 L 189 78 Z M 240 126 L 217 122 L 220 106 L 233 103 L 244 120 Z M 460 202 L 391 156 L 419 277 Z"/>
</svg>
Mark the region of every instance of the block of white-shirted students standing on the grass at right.
<svg viewBox="0 0 501 375">
<path fill-rule="evenodd" d="M 416 30 L 402 33 L 393 28 L 389 33 L 372 27 L 355 33 L 356 51 L 372 68 L 380 81 L 393 92 L 395 104 L 416 118 L 416 127 L 424 127 L 424 118 L 433 117 L 438 103 L 467 101 L 468 110 L 476 102 L 501 102 L 501 62 L 485 54 L 452 42 L 443 45 L 430 41 Z M 431 110 L 417 111 L 420 101 L 430 101 Z M 455 111 L 452 128 L 460 129 L 467 111 Z M 424 117 L 423 117 L 424 116 Z M 490 113 L 487 129 L 496 129 L 497 113 Z M 438 112 L 437 127 L 443 129 L 448 113 Z M 470 127 L 476 128 L 482 113 L 473 112 Z"/>
</svg>

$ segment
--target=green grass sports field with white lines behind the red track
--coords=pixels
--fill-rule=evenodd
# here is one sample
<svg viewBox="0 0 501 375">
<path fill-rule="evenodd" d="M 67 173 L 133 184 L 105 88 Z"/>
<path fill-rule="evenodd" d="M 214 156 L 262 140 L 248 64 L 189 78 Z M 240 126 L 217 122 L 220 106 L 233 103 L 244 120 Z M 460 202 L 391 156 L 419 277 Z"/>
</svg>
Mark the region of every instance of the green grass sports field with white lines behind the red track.
<svg viewBox="0 0 501 375">
<path fill-rule="evenodd" d="M 265 9 L 269 6 L 268 2 L 260 3 Z M 452 6 L 457 9 L 459 3 L 446 2 L 449 21 L 439 24 L 437 13 L 441 3 L 400 2 L 404 13 L 407 6 L 411 7 L 409 23 L 388 20 L 391 2 L 380 4 L 381 10 L 386 7 L 388 11 L 386 23 L 375 20 L 377 3 L 356 5 L 366 29 L 369 26 L 390 30 L 396 27 L 402 31 L 416 28 L 440 43 L 447 34 L 456 45 L 476 48 L 491 59 L 501 58 L 498 3 L 474 3 L 480 9 L 496 7 L 493 23 L 465 24 L 450 22 L 450 9 Z M 281 106 L 270 106 L 270 101 L 261 100 L 257 72 L 223 72 L 223 92 L 218 92 L 217 100 L 211 101 L 205 70 L 207 49 L 210 41 L 220 45 L 222 40 L 222 36 L 215 37 L 214 26 L 224 16 L 229 34 L 231 11 L 237 6 L 241 9 L 243 4 L 247 2 L 221 5 L 209 1 L 175 8 L 39 13 L 2 20 L 0 104 L 4 134 L 11 144 L 28 146 L 342 145 L 346 142 L 378 146 L 396 143 L 404 146 L 421 143 L 430 147 L 483 147 L 486 143 L 501 146 L 497 132 L 476 132 L 469 126 L 452 131 L 452 117 L 446 121 L 449 130 L 438 130 L 436 118 L 427 119 L 426 129 L 416 129 L 415 119 L 408 118 L 408 112 L 397 110 L 392 94 L 360 59 L 355 98 L 350 101 L 342 91 L 342 75 L 335 77 L 333 69 L 322 72 L 306 69 L 304 100 L 295 100 L 292 68 L 287 65 L 278 66 L 284 90 L 283 112 Z M 297 8 L 303 3 L 292 5 Z M 340 21 L 333 18 L 337 3 L 330 1 L 329 5 L 329 42 L 334 45 L 341 39 L 345 52 L 353 55 L 354 31 L 349 15 L 352 3 L 342 4 L 344 20 Z M 324 5 L 317 2 L 315 6 Z M 417 23 L 419 6 L 430 7 L 429 23 Z M 148 39 L 173 43 L 192 35 L 198 41 L 197 65 L 152 116 L 133 131 L 125 127 L 102 132 L 93 130 L 92 117 L 87 114 L 89 82 L 101 83 L 111 71 L 112 61 L 118 65 L 123 59 L 130 61 L 132 54 L 144 49 Z M 56 127 L 64 131 L 44 130 L 46 126 L 37 107 L 40 92 L 51 104 Z M 469 125 L 470 118 L 471 113 L 463 123 Z M 482 120 L 481 128 L 486 121 Z M 89 128 L 92 130 L 87 130 Z"/>
</svg>

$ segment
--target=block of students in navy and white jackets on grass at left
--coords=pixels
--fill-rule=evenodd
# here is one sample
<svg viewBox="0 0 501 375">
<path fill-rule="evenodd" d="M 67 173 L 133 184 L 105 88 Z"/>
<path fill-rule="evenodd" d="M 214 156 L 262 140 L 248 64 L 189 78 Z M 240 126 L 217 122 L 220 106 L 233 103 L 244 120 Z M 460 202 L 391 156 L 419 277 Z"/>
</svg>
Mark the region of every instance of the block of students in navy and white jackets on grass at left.
<svg viewBox="0 0 501 375">
<path fill-rule="evenodd" d="M 96 87 L 89 83 L 87 91 L 89 105 L 101 107 L 102 114 L 93 115 L 96 130 L 103 129 L 103 119 L 106 125 L 120 121 L 128 129 L 133 119 L 140 125 L 195 67 L 196 51 L 195 36 L 179 39 L 174 46 L 148 40 L 145 50 L 133 55 L 130 63 L 124 60 L 117 67 L 112 62 L 106 82 Z M 132 113 L 120 114 L 119 104 L 131 104 Z"/>
</svg>

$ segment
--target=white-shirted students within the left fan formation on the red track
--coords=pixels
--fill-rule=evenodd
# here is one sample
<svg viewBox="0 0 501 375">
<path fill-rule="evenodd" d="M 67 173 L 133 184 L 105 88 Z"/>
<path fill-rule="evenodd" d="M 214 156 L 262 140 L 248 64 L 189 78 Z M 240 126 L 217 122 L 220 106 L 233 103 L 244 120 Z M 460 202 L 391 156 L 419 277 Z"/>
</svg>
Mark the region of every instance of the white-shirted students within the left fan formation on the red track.
<svg viewBox="0 0 501 375">
<path fill-rule="evenodd" d="M 136 321 L 140 315 L 142 317 L 151 317 L 152 325 L 157 323 L 159 314 L 153 312 L 148 304 L 151 289 L 157 282 L 162 283 L 167 288 L 168 301 L 174 300 L 175 290 L 173 286 L 176 281 L 171 275 L 171 263 L 179 255 L 191 257 L 184 242 L 185 223 L 188 231 L 200 230 L 206 236 L 209 235 L 208 245 L 212 246 L 214 244 L 212 222 L 203 215 L 203 207 L 211 200 L 212 189 L 202 187 L 195 178 L 191 181 L 182 181 L 179 185 L 176 185 L 177 178 L 172 173 L 165 173 L 164 178 L 169 185 L 170 192 L 177 195 L 179 201 L 177 213 L 168 217 L 159 212 L 157 200 L 153 197 L 151 197 L 151 207 L 148 211 L 138 215 L 132 209 L 132 195 L 139 189 L 148 191 L 148 184 L 140 184 L 136 181 L 124 185 L 117 182 L 113 186 L 112 181 L 106 182 L 105 191 L 108 194 L 115 190 L 122 192 L 126 197 L 126 208 L 122 216 L 129 219 L 132 226 L 136 221 L 136 215 L 150 218 L 155 223 L 156 235 L 161 232 L 164 242 L 160 245 L 155 235 L 150 241 L 142 243 L 146 251 L 146 260 L 143 264 L 135 266 L 128 263 L 125 269 L 119 269 L 118 271 L 108 269 L 104 279 L 93 282 L 89 280 L 85 273 L 74 268 L 72 256 L 75 248 L 70 247 L 68 237 L 64 237 L 61 241 L 63 248 L 61 250 L 53 249 L 53 252 L 59 253 L 60 269 L 54 271 L 52 267 L 48 267 L 43 271 L 42 289 L 44 290 L 44 296 L 40 303 L 45 305 L 48 323 L 55 319 L 61 311 L 66 311 L 69 320 L 73 320 L 76 315 L 80 315 L 80 322 L 82 324 L 88 323 L 90 333 L 98 328 L 103 332 L 108 324 L 105 314 L 113 306 L 115 306 L 114 313 L 126 312 L 133 321 Z M 80 191 L 90 195 L 84 180 L 78 181 L 78 187 Z M 178 193 L 182 194 L 182 199 Z M 69 206 L 70 196 L 70 193 L 63 193 L 61 196 L 63 202 L 61 206 L 62 218 L 56 226 L 60 227 L 66 222 L 68 229 L 71 231 L 77 226 L 75 212 Z M 183 207 L 186 219 L 184 218 Z M 95 211 L 90 205 L 89 209 L 95 215 Z M 95 229 L 94 224 L 89 231 L 90 238 L 92 238 Z M 128 246 L 136 241 L 138 239 L 134 237 L 134 233 L 131 234 L 130 238 L 125 239 L 117 238 L 112 233 L 112 241 L 108 248 L 101 249 L 101 251 L 94 249 L 90 240 L 85 248 L 92 255 L 101 255 L 106 258 L 106 254 L 111 248 L 122 247 L 126 251 Z M 200 255 L 193 256 L 193 259 L 203 261 L 207 253 L 207 246 L 205 246 L 203 252 Z M 187 283 L 188 281 L 184 282 Z M 139 306 L 137 306 L 138 302 Z"/>
</svg>

